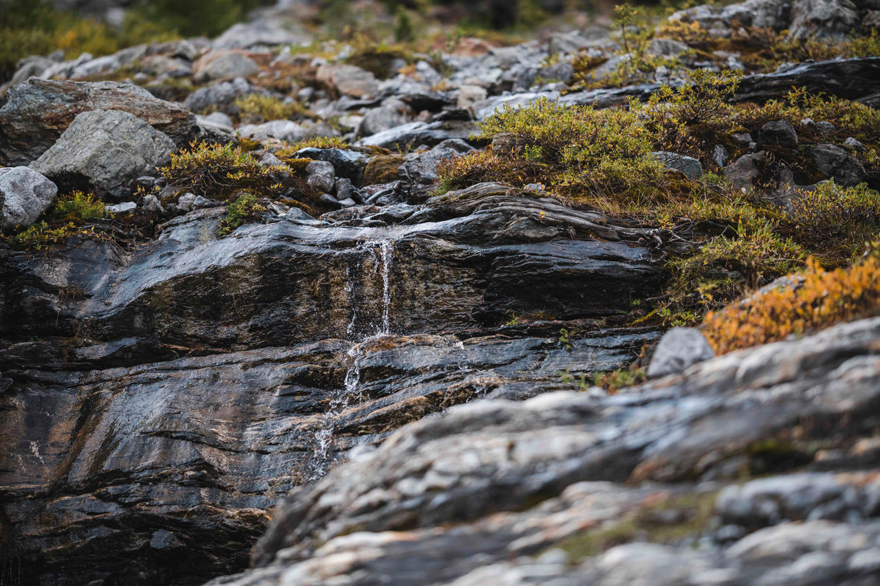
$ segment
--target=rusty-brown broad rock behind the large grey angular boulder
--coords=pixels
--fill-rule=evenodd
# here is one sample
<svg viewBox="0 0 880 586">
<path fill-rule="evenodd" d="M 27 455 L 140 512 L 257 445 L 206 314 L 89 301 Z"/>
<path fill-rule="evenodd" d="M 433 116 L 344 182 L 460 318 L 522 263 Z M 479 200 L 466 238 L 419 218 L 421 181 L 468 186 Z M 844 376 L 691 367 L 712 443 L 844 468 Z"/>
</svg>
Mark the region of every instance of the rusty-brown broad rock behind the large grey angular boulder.
<svg viewBox="0 0 880 586">
<path fill-rule="evenodd" d="M 31 78 L 12 87 L 6 98 L 0 108 L 0 162 L 5 165 L 30 165 L 55 144 L 77 114 L 92 110 L 134 114 L 178 147 L 198 132 L 191 112 L 131 84 Z"/>
</svg>

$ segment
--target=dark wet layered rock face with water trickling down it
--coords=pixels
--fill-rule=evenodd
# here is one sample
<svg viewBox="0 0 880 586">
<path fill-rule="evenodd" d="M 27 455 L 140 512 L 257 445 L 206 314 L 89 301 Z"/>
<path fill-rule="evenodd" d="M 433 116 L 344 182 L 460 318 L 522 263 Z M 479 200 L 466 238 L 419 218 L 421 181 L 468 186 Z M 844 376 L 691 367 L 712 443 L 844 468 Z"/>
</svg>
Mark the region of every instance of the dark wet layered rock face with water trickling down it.
<svg viewBox="0 0 880 586">
<path fill-rule="evenodd" d="M 492 185 L 403 207 L 223 239 L 221 210 L 200 209 L 130 256 L 76 238 L 0 251 L 19 582 L 241 571 L 275 501 L 341 458 L 458 404 L 571 388 L 656 339 L 596 324 L 662 280 L 638 231 Z"/>
</svg>

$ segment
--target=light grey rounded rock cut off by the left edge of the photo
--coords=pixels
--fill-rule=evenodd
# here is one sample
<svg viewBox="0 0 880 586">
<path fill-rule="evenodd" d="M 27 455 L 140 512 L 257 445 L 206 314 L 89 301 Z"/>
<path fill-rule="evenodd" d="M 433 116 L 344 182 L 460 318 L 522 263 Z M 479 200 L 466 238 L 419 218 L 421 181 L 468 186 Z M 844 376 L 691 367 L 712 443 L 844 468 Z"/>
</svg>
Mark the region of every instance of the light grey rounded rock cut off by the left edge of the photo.
<svg viewBox="0 0 880 586">
<path fill-rule="evenodd" d="M 0 168 L 0 230 L 25 228 L 55 201 L 58 187 L 27 167 Z"/>
</svg>

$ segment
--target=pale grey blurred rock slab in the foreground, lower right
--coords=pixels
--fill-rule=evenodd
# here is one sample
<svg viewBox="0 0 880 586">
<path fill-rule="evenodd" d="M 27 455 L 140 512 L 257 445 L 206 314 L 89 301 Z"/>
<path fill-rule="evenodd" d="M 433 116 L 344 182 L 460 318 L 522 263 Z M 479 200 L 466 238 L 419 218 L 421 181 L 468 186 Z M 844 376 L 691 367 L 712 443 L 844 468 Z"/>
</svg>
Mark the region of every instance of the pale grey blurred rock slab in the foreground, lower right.
<svg viewBox="0 0 880 586">
<path fill-rule="evenodd" d="M 803 465 L 815 442 L 838 450 L 820 470 L 874 461 L 878 333 L 880 319 L 837 326 L 618 396 L 455 407 L 297 488 L 254 549 L 256 569 L 214 583 L 518 584 L 542 566 L 572 584 L 649 580 L 666 567 L 658 583 L 700 583 L 708 570 L 723 583 L 779 583 L 806 580 L 818 559 L 833 578 L 810 583 L 876 579 L 863 561 L 876 551 L 876 472 L 738 478 Z M 668 545 L 599 555 L 605 538 L 605 548 Z M 561 560 L 538 556 L 554 547 Z M 415 572 L 412 559 L 434 571 Z"/>
</svg>

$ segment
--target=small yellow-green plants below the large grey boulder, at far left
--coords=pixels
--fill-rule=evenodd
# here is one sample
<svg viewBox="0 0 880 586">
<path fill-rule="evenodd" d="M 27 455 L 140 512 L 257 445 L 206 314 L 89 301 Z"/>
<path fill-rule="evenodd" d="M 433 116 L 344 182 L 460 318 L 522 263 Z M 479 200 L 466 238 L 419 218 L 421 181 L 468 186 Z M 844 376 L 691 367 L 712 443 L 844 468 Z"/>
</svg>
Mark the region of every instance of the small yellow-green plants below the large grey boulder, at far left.
<svg viewBox="0 0 880 586">
<path fill-rule="evenodd" d="M 56 198 L 40 222 L 12 234 L 9 242 L 18 249 L 43 250 L 63 244 L 75 234 L 96 237 L 99 232 L 94 230 L 94 226 L 87 224 L 103 217 L 103 201 L 99 201 L 93 194 L 74 191 Z"/>
</svg>

